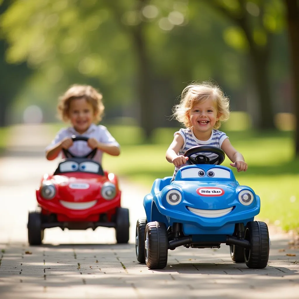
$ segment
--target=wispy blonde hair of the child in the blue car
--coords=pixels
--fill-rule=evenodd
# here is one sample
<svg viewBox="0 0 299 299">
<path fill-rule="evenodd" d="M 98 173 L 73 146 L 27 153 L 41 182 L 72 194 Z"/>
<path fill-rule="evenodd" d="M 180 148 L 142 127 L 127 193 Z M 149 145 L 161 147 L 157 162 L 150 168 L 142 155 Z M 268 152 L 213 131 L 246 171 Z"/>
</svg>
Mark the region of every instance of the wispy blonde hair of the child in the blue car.
<svg viewBox="0 0 299 299">
<path fill-rule="evenodd" d="M 216 121 L 214 129 L 218 129 L 221 122 L 229 118 L 229 98 L 225 96 L 222 89 L 214 83 L 202 82 L 190 84 L 184 88 L 181 94 L 181 101 L 173 107 L 173 118 L 183 123 L 186 128 L 191 128 L 189 111 L 198 103 L 212 98 L 216 103 L 219 120 Z"/>
</svg>

